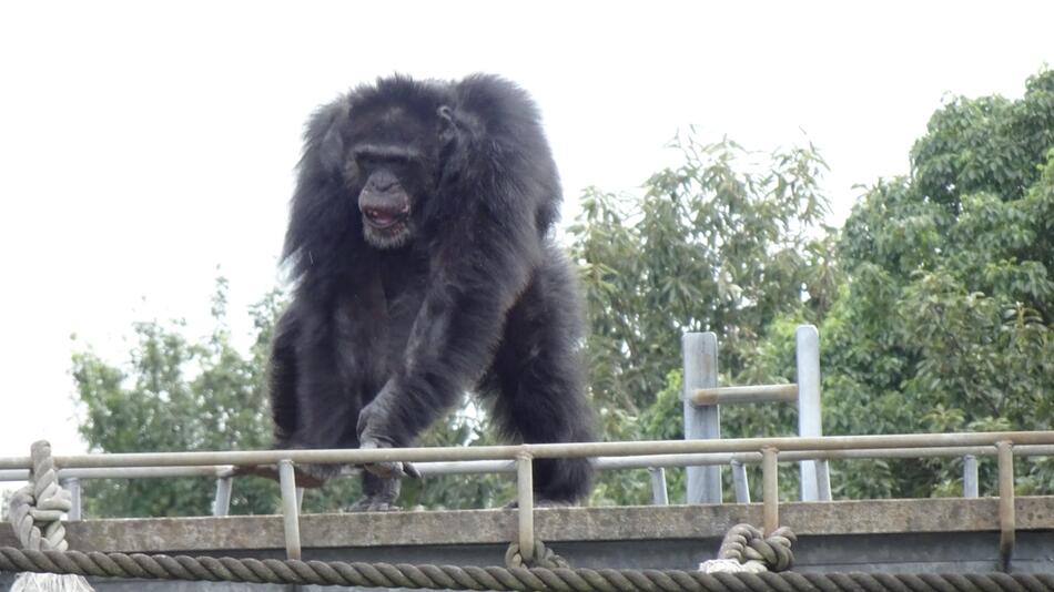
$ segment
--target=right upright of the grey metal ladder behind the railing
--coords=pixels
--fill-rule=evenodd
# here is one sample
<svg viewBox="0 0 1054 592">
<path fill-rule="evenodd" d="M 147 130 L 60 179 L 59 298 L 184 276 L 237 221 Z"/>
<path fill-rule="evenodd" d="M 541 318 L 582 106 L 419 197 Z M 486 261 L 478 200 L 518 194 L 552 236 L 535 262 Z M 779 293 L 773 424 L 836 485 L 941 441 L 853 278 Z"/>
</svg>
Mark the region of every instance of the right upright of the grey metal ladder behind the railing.
<svg viewBox="0 0 1054 592">
<path fill-rule="evenodd" d="M 820 334 L 812 325 L 799 325 L 794 331 L 798 357 L 798 436 L 815 438 L 823 436 L 820 420 Z M 801 499 L 820 499 L 818 468 L 827 460 L 801 461 Z M 823 472 L 827 473 L 827 470 Z M 828 478 L 830 479 L 830 477 Z M 824 484 L 830 491 L 830 480 Z"/>
</svg>

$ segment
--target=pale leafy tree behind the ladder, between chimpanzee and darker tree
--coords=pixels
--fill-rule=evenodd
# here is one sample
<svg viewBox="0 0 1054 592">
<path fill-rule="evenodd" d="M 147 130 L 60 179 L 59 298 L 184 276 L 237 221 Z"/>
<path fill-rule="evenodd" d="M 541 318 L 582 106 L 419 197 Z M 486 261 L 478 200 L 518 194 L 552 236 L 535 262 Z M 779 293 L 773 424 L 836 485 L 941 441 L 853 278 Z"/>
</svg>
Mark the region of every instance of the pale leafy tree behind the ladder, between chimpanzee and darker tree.
<svg viewBox="0 0 1054 592">
<path fill-rule="evenodd" d="M 642 196 L 590 190 L 570 227 L 589 310 L 589 385 L 612 440 L 682 437 L 680 375 L 670 371 L 683 331 L 721 336 L 724 380 L 772 380 L 751 360 L 773 321 L 822 318 L 838 283 L 830 242 L 814 237 L 827 201 L 812 146 L 760 155 L 689 133 L 673 147 L 682 164 L 651 176 Z M 791 420 L 774 407 L 726 416 L 730 436 L 771 436 Z M 649 497 L 639 476 L 608 474 L 594 501 Z"/>
</svg>

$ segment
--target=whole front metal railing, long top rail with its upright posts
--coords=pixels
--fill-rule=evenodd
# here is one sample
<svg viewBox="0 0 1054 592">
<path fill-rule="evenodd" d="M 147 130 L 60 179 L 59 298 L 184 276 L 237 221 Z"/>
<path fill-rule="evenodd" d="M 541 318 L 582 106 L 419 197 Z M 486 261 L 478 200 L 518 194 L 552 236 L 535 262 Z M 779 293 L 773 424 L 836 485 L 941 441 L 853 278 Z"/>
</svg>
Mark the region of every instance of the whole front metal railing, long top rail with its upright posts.
<svg viewBox="0 0 1054 592">
<path fill-rule="evenodd" d="M 389 448 L 343 450 L 260 450 L 227 452 L 142 452 L 55 456 L 60 478 L 144 478 L 206 474 L 224 478 L 232 466 L 276 465 L 282 490 L 286 553 L 301 554 L 298 496 L 294 463 L 364 465 L 416 462 L 425 474 L 515 472 L 518 535 L 525 560 L 534 541 L 534 498 L 530 487 L 535 458 L 597 458 L 604 469 L 693 467 L 761 463 L 766 532 L 779 523 L 777 463 L 780 461 L 849 458 L 931 458 L 995 456 L 999 463 L 1000 549 L 1005 561 L 1014 545 L 1015 456 L 1054 455 L 1054 431 L 984 433 L 911 433 L 894 436 L 828 436 L 820 438 L 743 438 L 727 440 L 661 440 L 579 442 L 454 448 Z M 24 479 L 29 457 L 0 458 L 0 479 Z"/>
</svg>

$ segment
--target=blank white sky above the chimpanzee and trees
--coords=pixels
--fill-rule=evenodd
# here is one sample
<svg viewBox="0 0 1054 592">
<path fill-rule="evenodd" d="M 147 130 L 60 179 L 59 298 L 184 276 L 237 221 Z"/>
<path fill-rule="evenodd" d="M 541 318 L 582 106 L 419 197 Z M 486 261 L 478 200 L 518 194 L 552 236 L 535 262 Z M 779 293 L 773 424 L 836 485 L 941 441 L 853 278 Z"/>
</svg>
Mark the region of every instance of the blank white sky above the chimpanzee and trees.
<svg viewBox="0 0 1054 592">
<path fill-rule="evenodd" d="M 3 3 L 0 457 L 83 450 L 71 334 L 114 361 L 136 319 L 203 334 L 217 266 L 247 327 L 303 122 L 361 81 L 524 85 L 565 218 L 587 185 L 639 185 L 695 123 L 756 150 L 812 141 L 841 221 L 854 184 L 908 171 L 946 93 L 1020 96 L 1054 63 L 1052 23 L 1054 2 Z"/>
</svg>

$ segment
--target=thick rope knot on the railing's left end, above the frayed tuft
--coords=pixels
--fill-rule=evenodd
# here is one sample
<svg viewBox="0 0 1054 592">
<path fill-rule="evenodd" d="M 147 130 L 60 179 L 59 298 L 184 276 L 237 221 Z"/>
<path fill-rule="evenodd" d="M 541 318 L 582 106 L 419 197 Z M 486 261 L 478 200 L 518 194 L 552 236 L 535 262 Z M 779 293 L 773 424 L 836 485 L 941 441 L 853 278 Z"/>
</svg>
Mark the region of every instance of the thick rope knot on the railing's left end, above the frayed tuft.
<svg viewBox="0 0 1054 592">
<path fill-rule="evenodd" d="M 29 484 L 16 491 L 10 503 L 14 535 L 26 549 L 65 551 L 62 514 L 73 506 L 70 492 L 59 487 L 51 445 L 40 440 L 30 450 L 33 469 Z"/>
</svg>

